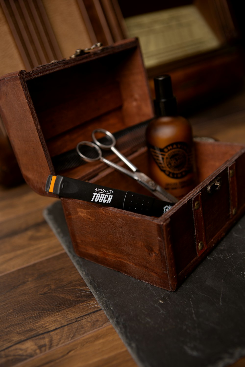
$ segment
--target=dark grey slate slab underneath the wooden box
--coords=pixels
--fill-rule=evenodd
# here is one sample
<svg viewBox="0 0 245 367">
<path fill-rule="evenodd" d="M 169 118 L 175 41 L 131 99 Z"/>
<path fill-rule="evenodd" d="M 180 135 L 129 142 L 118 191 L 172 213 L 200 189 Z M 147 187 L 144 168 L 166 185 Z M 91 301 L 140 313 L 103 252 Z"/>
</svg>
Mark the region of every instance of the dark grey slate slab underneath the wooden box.
<svg viewBox="0 0 245 367">
<path fill-rule="evenodd" d="M 223 367 L 245 356 L 245 217 L 175 292 L 76 256 L 60 202 L 44 217 L 139 366 Z"/>
</svg>

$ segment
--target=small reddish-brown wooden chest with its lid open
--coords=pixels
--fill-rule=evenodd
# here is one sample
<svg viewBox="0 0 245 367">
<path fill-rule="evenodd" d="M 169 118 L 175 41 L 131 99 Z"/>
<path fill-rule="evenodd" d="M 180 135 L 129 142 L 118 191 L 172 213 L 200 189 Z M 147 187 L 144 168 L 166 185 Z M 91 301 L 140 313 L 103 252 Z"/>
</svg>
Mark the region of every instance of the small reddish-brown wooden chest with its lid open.
<svg viewBox="0 0 245 367">
<path fill-rule="evenodd" d="M 101 162 L 62 172 L 53 164 L 79 141 L 91 140 L 94 128 L 114 133 L 154 116 L 136 39 L 5 75 L 0 88 L 4 124 L 37 193 L 52 195 L 44 190 L 47 177 L 62 174 L 149 195 Z M 144 136 L 139 142 L 133 135 L 124 137 L 129 146 L 122 152 L 148 174 Z M 160 218 L 61 199 L 76 254 L 175 290 L 245 211 L 244 146 L 195 142 L 195 150 L 199 185 Z"/>
</svg>

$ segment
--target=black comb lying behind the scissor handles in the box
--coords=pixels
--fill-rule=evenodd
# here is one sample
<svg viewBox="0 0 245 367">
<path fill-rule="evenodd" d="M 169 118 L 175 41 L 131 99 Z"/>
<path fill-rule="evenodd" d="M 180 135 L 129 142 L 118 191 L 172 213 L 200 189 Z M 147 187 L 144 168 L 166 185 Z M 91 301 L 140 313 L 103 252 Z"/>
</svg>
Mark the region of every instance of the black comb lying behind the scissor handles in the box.
<svg viewBox="0 0 245 367">
<path fill-rule="evenodd" d="M 126 129 L 115 132 L 113 135 L 116 139 L 116 148 L 118 150 L 125 150 L 132 146 L 144 145 L 145 144 L 145 130 L 150 120 L 141 122 L 140 124 L 127 127 Z M 107 139 L 105 137 L 99 139 L 99 141 L 103 144 L 107 143 Z M 86 148 L 84 148 L 86 149 Z M 87 148 L 89 152 L 89 157 L 96 158 L 97 155 L 94 150 L 91 148 Z M 111 155 L 110 150 L 103 150 L 103 156 Z M 52 163 L 54 165 L 55 172 L 62 172 L 65 170 L 69 170 L 71 168 L 76 168 L 82 166 L 83 164 L 87 164 L 86 161 L 79 156 L 76 149 L 68 150 L 67 152 L 61 153 L 52 158 Z"/>
</svg>

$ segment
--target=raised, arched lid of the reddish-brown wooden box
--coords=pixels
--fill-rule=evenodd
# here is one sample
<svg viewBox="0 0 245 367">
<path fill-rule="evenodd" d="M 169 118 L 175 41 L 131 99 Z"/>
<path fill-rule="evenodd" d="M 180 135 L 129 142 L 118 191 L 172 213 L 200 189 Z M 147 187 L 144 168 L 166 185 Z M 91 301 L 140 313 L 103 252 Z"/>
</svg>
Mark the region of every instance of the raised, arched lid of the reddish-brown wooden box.
<svg viewBox="0 0 245 367">
<path fill-rule="evenodd" d="M 154 116 L 138 40 L 4 75 L 0 113 L 25 181 L 48 195 L 54 156 L 91 141 L 94 128 L 114 133 Z"/>
</svg>

